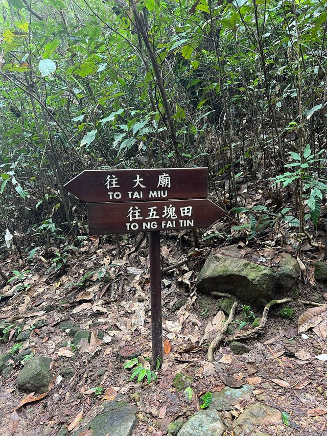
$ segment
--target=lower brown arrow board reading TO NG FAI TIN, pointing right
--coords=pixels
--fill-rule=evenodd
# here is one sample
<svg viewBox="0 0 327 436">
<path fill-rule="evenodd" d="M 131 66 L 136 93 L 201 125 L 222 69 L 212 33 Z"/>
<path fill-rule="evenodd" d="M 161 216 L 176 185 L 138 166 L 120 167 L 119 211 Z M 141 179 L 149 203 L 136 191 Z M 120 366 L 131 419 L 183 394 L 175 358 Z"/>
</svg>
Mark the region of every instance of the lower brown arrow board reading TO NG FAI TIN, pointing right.
<svg viewBox="0 0 327 436">
<path fill-rule="evenodd" d="M 208 227 L 225 212 L 208 199 L 88 203 L 89 235 Z"/>
</svg>

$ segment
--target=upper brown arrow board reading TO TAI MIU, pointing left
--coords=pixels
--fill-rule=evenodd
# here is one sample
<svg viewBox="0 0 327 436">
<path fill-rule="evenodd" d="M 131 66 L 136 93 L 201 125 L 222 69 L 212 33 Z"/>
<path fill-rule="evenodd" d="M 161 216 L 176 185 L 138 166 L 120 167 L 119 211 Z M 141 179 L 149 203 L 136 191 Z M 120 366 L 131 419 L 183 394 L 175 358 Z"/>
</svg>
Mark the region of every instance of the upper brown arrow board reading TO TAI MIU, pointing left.
<svg viewBox="0 0 327 436">
<path fill-rule="evenodd" d="M 207 168 L 86 170 L 65 189 L 88 203 L 206 198 L 207 180 Z"/>
</svg>

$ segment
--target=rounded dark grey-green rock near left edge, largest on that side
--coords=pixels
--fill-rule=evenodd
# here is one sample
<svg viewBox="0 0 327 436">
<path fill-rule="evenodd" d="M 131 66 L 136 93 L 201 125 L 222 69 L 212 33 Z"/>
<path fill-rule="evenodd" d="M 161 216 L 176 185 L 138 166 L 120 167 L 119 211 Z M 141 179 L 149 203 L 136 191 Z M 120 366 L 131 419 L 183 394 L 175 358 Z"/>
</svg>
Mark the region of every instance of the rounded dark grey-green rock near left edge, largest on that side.
<svg viewBox="0 0 327 436">
<path fill-rule="evenodd" d="M 52 378 L 49 371 L 51 359 L 49 357 L 36 355 L 28 360 L 17 377 L 17 386 L 22 391 L 42 394 L 48 391 Z"/>
</svg>

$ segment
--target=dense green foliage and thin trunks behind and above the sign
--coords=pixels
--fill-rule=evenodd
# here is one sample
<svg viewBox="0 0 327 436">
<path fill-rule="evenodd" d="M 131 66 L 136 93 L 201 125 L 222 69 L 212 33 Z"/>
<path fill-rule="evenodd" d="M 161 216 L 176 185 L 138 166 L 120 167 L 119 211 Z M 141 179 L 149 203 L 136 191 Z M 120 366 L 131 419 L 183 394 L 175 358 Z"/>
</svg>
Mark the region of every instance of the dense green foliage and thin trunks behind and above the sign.
<svg viewBox="0 0 327 436">
<path fill-rule="evenodd" d="M 217 193 L 229 208 L 246 205 L 239 178 L 272 178 L 274 212 L 284 185 L 300 232 L 308 219 L 317 226 L 326 6 L 2 2 L 1 233 L 24 235 L 26 249 L 52 234 L 85 234 L 84 206 L 63 188 L 83 169 L 182 165 L 209 166 L 213 190 L 228 181 Z"/>
</svg>

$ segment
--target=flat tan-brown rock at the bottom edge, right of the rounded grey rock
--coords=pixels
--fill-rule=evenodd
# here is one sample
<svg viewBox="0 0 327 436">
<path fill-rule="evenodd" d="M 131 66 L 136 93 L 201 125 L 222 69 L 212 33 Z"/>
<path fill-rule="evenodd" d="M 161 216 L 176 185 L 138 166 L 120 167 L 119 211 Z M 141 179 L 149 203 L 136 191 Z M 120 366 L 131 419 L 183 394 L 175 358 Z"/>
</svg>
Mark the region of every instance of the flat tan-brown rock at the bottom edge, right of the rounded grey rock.
<svg viewBox="0 0 327 436">
<path fill-rule="evenodd" d="M 279 410 L 262 403 L 254 403 L 233 421 L 233 431 L 235 435 L 250 434 L 257 429 L 260 430 L 258 427 L 277 423 L 282 424 L 282 415 Z"/>
</svg>

